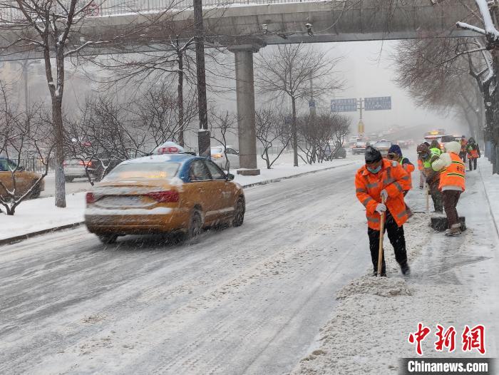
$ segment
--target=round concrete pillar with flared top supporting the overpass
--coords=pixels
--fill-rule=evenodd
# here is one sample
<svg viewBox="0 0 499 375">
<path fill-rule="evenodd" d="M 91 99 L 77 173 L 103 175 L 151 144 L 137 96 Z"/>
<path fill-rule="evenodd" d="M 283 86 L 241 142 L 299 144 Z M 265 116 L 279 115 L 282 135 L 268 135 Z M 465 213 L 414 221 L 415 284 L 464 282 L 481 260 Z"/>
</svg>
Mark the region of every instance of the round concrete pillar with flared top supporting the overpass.
<svg viewBox="0 0 499 375">
<path fill-rule="evenodd" d="M 259 175 L 257 167 L 257 135 L 254 115 L 253 53 L 264 46 L 259 43 L 245 43 L 231 46 L 235 54 L 237 129 L 239 134 L 240 175 Z"/>
</svg>

